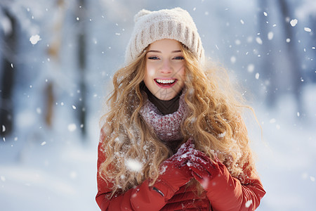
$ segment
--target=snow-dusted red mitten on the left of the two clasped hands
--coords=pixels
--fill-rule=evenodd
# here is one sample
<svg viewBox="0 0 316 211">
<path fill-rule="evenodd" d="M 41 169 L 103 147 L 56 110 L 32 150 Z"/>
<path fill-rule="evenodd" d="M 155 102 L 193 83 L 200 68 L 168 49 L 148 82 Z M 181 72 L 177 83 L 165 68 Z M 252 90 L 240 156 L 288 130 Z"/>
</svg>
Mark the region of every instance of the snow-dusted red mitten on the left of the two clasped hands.
<svg viewBox="0 0 316 211">
<path fill-rule="evenodd" d="M 160 166 L 160 175 L 152 187 L 166 199 L 173 196 L 176 191 L 192 179 L 192 172 L 187 166 L 188 151 L 194 146 L 191 139 L 180 146 L 177 153 L 166 159 Z"/>
</svg>

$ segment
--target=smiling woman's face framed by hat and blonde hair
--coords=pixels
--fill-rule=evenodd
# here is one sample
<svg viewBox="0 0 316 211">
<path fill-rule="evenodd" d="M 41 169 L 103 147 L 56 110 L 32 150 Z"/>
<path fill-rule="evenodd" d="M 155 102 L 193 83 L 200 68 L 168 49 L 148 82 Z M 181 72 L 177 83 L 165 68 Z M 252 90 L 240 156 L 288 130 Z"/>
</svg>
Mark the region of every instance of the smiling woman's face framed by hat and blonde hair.
<svg viewBox="0 0 316 211">
<path fill-rule="evenodd" d="M 169 101 L 183 89 L 184 79 L 185 60 L 180 42 L 160 39 L 150 44 L 144 78 L 150 92 L 162 101 Z"/>
</svg>

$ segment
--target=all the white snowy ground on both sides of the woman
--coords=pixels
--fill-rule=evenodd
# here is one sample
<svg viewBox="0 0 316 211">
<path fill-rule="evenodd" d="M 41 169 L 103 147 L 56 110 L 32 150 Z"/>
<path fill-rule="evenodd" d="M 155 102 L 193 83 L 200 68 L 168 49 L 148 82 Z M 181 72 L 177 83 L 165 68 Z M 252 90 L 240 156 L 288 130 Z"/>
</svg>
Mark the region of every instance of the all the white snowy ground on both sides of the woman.
<svg viewBox="0 0 316 211">
<path fill-rule="evenodd" d="M 316 207 L 316 87 L 305 91 L 307 123 L 298 122 L 291 97 L 279 100 L 275 112 L 258 109 L 263 140 L 254 141 L 258 172 L 268 192 L 258 210 L 314 210 Z M 98 120 L 91 120 L 96 128 Z M 260 136 L 260 129 L 250 128 Z M 18 153 L 18 141 L 1 141 L 0 207 L 15 210 L 98 210 L 96 146 L 64 140 L 29 142 Z M 47 134 L 51 136 L 51 134 Z M 20 160 L 18 162 L 17 160 Z"/>
</svg>

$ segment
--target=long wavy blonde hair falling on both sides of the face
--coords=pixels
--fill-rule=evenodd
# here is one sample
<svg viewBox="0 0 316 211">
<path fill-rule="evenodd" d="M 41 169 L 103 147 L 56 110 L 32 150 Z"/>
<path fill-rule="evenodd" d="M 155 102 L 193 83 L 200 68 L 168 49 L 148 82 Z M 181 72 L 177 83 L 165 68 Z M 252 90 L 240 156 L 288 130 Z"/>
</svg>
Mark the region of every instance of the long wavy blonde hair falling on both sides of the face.
<svg viewBox="0 0 316 211">
<path fill-rule="evenodd" d="M 233 177 L 243 179 L 252 172 L 251 149 L 246 127 L 241 117 L 242 97 L 228 82 L 218 77 L 221 68 L 199 65 L 196 56 L 181 46 L 185 58 L 185 103 L 189 116 L 181 126 L 185 142 L 195 140 L 195 148 L 211 159 L 218 158 Z M 171 155 L 171 150 L 152 132 L 139 114 L 145 98 L 142 82 L 145 76 L 145 51 L 130 65 L 118 70 L 113 77 L 114 89 L 104 115 L 103 152 L 106 160 L 100 165 L 100 177 L 113 184 L 112 193 L 124 192 L 150 179 L 154 184 L 159 165 Z M 225 72 L 225 71 L 224 71 Z M 136 160 L 140 170 L 126 165 Z"/>
</svg>

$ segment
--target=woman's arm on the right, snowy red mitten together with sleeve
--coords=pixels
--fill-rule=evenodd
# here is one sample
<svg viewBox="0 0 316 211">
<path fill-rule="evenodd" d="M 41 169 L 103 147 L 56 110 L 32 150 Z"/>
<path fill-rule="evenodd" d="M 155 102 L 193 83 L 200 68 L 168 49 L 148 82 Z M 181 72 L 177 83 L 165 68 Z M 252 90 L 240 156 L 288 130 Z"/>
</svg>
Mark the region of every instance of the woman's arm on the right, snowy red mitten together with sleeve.
<svg viewBox="0 0 316 211">
<path fill-rule="evenodd" d="M 249 178 L 249 184 L 241 184 L 219 160 L 213 161 L 197 150 L 189 157 L 187 166 L 206 191 L 213 210 L 249 211 L 258 207 L 265 195 L 259 179 Z"/>
</svg>

